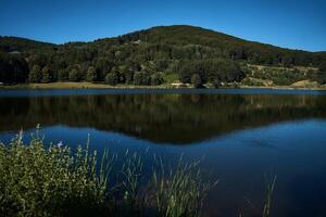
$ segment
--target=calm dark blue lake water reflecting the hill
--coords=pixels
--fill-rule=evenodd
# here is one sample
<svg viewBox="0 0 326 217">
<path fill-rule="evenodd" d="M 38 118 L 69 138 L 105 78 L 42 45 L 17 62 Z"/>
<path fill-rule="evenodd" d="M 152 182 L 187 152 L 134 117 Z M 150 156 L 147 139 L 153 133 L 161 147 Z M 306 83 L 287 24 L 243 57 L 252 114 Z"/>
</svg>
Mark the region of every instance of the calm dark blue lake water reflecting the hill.
<svg viewBox="0 0 326 217">
<path fill-rule="evenodd" d="M 277 174 L 272 216 L 326 216 L 326 92 L 297 90 L 2 90 L 0 140 L 37 124 L 47 141 L 202 158 L 220 179 L 208 216 L 254 216 Z M 251 203 L 249 203 L 250 201 Z"/>
</svg>

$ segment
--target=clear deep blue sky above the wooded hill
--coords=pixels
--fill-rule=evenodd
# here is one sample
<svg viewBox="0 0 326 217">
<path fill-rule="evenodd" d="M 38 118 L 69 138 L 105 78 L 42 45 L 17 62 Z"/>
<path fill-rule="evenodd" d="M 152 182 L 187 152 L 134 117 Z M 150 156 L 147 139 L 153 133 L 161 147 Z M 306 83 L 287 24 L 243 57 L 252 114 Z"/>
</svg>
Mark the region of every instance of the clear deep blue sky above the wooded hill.
<svg viewBox="0 0 326 217">
<path fill-rule="evenodd" d="M 0 35 L 91 41 L 186 24 L 284 48 L 326 51 L 325 0 L 0 0 Z"/>
</svg>

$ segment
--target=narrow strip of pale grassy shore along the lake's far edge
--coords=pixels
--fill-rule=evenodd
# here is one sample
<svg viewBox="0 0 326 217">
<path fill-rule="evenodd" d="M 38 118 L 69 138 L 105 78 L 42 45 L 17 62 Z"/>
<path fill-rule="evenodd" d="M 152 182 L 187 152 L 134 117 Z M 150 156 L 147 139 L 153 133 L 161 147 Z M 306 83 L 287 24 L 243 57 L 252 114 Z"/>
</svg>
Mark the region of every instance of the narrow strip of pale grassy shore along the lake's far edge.
<svg viewBox="0 0 326 217">
<path fill-rule="evenodd" d="M 160 86 L 135 86 L 135 85 L 116 85 L 97 82 L 49 82 L 49 84 L 17 84 L 17 85 L 0 85 L 0 89 L 179 89 L 193 88 L 191 85 L 181 87 L 173 86 L 172 84 L 163 84 Z M 208 85 L 206 88 L 213 88 Z M 221 88 L 227 89 L 279 89 L 279 90 L 326 90 L 326 86 L 318 87 L 293 87 L 293 86 L 226 86 Z"/>
</svg>

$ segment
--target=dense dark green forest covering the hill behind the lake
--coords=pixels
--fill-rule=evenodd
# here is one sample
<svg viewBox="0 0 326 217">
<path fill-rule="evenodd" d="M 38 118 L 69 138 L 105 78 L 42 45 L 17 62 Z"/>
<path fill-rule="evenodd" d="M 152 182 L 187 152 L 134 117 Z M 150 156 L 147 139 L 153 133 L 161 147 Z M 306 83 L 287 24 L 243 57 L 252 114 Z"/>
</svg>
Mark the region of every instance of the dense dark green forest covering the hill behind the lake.
<svg viewBox="0 0 326 217">
<path fill-rule="evenodd" d="M 205 82 L 218 87 L 242 80 L 250 69 L 248 64 L 315 68 L 313 79 L 326 81 L 326 52 L 283 49 L 193 26 L 160 26 L 64 44 L 0 37 L 3 84 L 104 81 L 156 86 L 173 74 L 196 87 Z"/>
</svg>

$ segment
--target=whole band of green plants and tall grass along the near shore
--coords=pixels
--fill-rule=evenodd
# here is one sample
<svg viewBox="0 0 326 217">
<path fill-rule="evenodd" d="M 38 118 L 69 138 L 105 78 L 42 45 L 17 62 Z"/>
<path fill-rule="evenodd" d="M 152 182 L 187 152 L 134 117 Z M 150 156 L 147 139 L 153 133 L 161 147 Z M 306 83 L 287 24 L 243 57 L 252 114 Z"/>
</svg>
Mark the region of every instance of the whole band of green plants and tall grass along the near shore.
<svg viewBox="0 0 326 217">
<path fill-rule="evenodd" d="M 161 161 L 147 181 L 143 159 L 126 152 L 123 165 L 109 151 L 46 145 L 38 131 L 28 144 L 23 133 L 0 144 L 2 216 L 199 216 L 216 183 L 204 181 L 199 163 L 166 169 Z M 112 169 L 113 166 L 118 168 Z M 114 173 L 113 173 L 114 170 Z M 117 181 L 110 181 L 114 177 Z M 141 180 L 141 183 L 140 183 Z"/>
</svg>

